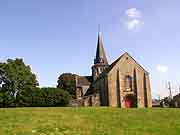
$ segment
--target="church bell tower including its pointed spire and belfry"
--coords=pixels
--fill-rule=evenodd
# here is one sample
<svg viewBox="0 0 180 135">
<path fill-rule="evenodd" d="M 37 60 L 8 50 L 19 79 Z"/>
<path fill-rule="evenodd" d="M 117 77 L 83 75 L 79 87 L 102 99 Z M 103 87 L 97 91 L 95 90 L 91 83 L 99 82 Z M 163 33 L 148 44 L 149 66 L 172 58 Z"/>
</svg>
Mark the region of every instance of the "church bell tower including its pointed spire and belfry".
<svg viewBox="0 0 180 135">
<path fill-rule="evenodd" d="M 107 57 L 104 51 L 101 33 L 98 33 L 96 57 L 92 66 L 92 76 L 95 81 L 99 75 L 108 67 Z"/>
</svg>

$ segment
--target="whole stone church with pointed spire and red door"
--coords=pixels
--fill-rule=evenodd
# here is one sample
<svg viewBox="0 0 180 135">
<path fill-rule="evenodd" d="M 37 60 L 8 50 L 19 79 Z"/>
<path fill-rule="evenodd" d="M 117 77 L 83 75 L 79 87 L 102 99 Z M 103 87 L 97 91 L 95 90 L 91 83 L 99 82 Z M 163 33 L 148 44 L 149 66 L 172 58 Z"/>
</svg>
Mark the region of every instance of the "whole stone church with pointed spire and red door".
<svg viewBox="0 0 180 135">
<path fill-rule="evenodd" d="M 82 106 L 152 107 L 149 73 L 127 52 L 109 64 L 100 33 L 91 70 L 91 76 L 75 77 Z"/>
</svg>

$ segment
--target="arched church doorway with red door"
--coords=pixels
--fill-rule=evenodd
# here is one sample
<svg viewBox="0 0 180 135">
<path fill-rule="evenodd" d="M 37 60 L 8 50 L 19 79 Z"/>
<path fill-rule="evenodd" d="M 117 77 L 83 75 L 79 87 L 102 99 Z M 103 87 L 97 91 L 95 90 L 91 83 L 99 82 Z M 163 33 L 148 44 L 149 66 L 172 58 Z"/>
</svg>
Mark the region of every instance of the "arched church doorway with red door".
<svg viewBox="0 0 180 135">
<path fill-rule="evenodd" d="M 136 98 L 133 94 L 128 94 L 124 98 L 125 108 L 136 107 Z"/>
</svg>

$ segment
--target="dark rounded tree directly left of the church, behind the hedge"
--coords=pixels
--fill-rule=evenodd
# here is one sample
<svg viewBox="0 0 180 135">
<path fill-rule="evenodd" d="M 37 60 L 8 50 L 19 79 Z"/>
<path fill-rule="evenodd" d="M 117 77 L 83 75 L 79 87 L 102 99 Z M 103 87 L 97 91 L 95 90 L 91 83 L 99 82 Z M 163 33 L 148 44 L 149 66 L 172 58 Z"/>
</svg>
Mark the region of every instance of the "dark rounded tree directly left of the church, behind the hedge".
<svg viewBox="0 0 180 135">
<path fill-rule="evenodd" d="M 69 94 L 75 98 L 76 97 L 76 81 L 75 74 L 63 73 L 58 78 L 58 88 L 64 89 L 69 92 Z"/>
</svg>

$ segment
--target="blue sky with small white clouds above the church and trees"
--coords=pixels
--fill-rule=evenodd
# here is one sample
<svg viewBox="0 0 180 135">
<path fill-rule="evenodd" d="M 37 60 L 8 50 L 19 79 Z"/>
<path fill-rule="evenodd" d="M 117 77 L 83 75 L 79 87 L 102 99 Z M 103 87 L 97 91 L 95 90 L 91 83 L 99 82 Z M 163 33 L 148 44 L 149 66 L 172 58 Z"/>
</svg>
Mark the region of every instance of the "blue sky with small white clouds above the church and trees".
<svg viewBox="0 0 180 135">
<path fill-rule="evenodd" d="M 151 75 L 153 97 L 180 85 L 179 0 L 0 1 L 0 61 L 21 57 L 41 86 L 62 72 L 90 75 L 98 24 L 109 63 L 129 52 Z"/>
</svg>

